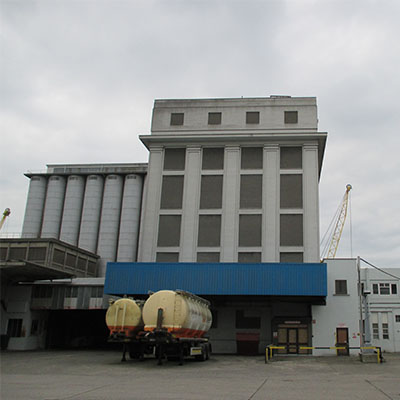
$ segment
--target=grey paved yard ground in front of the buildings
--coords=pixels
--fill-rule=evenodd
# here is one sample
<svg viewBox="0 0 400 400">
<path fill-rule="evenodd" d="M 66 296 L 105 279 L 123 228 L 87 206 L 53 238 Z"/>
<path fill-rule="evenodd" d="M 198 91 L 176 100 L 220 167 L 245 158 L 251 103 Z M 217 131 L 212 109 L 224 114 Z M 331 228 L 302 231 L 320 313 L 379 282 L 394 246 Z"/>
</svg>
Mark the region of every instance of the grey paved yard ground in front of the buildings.
<svg viewBox="0 0 400 400">
<path fill-rule="evenodd" d="M 213 355 L 205 362 L 122 363 L 117 351 L 2 352 L 1 400 L 400 399 L 400 354 L 356 357 Z"/>
</svg>

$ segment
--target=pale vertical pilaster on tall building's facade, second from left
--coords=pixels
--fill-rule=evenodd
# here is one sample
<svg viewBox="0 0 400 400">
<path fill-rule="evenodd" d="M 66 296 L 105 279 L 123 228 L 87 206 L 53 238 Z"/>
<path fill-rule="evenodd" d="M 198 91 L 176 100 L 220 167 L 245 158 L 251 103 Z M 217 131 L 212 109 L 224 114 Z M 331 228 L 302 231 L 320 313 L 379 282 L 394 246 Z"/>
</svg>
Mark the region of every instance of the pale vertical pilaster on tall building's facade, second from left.
<svg viewBox="0 0 400 400">
<path fill-rule="evenodd" d="M 179 261 L 196 261 L 196 238 L 201 177 L 200 147 L 186 149 L 185 180 L 183 185 L 182 240 Z"/>
</svg>

